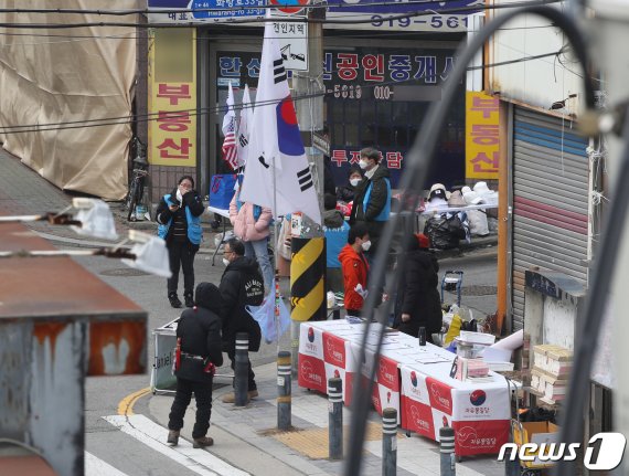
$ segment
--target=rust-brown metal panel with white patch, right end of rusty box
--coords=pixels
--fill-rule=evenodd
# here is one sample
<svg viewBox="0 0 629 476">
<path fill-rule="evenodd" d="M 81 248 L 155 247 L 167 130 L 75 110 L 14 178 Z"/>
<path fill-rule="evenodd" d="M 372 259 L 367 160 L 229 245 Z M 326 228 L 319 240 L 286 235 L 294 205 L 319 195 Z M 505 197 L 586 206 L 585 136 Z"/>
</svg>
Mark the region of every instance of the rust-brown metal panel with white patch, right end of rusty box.
<svg viewBox="0 0 629 476">
<path fill-rule="evenodd" d="M 145 320 L 89 322 L 88 375 L 145 373 L 147 368 Z"/>
</svg>

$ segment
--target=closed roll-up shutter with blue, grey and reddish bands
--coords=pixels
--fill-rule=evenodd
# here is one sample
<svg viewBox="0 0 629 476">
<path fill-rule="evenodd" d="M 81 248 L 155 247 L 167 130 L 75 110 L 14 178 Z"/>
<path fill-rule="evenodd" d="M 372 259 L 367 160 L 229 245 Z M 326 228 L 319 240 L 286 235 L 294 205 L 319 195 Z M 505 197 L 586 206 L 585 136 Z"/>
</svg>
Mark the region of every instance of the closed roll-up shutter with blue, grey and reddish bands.
<svg viewBox="0 0 629 476">
<path fill-rule="evenodd" d="M 524 321 L 524 272 L 531 266 L 587 284 L 589 160 L 571 121 L 514 108 L 513 328 Z"/>
</svg>

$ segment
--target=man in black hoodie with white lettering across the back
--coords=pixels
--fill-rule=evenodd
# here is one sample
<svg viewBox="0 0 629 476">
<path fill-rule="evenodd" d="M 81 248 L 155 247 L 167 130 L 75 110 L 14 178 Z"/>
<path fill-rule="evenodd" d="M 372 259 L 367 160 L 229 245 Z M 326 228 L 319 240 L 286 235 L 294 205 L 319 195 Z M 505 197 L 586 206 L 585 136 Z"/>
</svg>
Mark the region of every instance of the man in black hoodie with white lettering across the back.
<svg viewBox="0 0 629 476">
<path fill-rule="evenodd" d="M 264 300 L 264 279 L 255 260 L 245 257 L 245 245 L 238 239 L 231 239 L 223 248 L 224 260 L 228 262 L 221 277 L 221 297 L 223 307 L 223 350 L 227 352 L 234 369 L 236 356 L 236 334 L 249 335 L 249 351 L 260 348 L 262 331 L 258 324 L 245 309 L 245 306 L 259 306 Z M 255 373 L 248 363 L 248 398 L 258 395 Z M 223 396 L 224 403 L 234 403 L 234 392 Z"/>
</svg>

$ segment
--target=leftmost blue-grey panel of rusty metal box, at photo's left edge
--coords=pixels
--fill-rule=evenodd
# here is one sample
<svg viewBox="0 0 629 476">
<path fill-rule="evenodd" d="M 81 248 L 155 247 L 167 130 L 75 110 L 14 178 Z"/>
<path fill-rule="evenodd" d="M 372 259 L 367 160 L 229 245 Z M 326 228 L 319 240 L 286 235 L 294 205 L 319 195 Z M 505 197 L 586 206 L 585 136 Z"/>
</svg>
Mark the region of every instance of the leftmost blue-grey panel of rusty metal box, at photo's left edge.
<svg viewBox="0 0 629 476">
<path fill-rule="evenodd" d="M 29 424 L 30 322 L 0 321 L 0 437 L 24 441 Z"/>
</svg>

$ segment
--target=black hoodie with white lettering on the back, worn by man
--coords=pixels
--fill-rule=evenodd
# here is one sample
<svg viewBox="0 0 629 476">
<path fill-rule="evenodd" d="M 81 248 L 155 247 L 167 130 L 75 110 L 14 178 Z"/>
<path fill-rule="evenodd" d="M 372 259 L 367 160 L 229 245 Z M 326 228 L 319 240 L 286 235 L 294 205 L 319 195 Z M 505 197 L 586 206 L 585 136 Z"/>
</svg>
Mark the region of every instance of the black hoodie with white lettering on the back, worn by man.
<svg viewBox="0 0 629 476">
<path fill-rule="evenodd" d="M 234 350 L 236 332 L 249 335 L 250 351 L 257 352 L 260 348 L 260 327 L 245 309 L 245 283 L 250 281 L 252 276 L 258 282 L 264 298 L 264 279 L 254 260 L 244 256 L 234 260 L 221 277 L 218 288 L 223 298 L 221 319 L 223 321 L 223 350 L 225 351 Z"/>
</svg>

